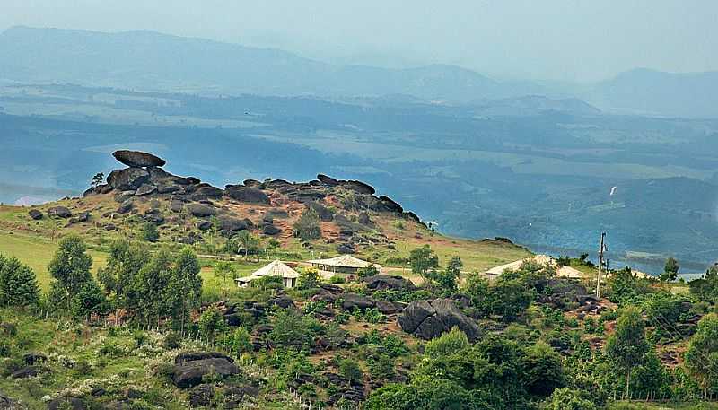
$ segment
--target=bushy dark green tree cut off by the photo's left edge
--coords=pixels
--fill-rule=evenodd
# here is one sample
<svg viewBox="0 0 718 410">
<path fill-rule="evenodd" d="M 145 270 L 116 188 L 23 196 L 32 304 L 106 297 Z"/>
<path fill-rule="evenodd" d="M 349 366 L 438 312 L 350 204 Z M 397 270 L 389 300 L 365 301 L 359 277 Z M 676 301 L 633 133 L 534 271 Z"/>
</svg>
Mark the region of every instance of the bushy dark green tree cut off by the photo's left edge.
<svg viewBox="0 0 718 410">
<path fill-rule="evenodd" d="M 0 255 L 0 306 L 27 308 L 39 301 L 35 272 L 15 258 Z"/>
</svg>

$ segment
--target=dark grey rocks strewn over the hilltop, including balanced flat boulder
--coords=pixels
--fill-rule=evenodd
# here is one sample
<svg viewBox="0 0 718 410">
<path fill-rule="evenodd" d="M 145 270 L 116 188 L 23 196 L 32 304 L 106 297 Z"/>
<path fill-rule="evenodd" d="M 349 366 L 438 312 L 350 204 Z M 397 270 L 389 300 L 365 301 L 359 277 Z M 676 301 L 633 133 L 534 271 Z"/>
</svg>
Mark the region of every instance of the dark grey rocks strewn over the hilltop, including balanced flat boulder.
<svg viewBox="0 0 718 410">
<path fill-rule="evenodd" d="M 220 229 L 225 234 L 232 232 L 258 229 L 265 235 L 276 236 L 282 229 L 275 224 L 276 218 L 286 218 L 288 215 L 281 209 L 281 205 L 290 202 L 299 202 L 313 210 L 324 222 L 335 222 L 340 231 L 336 238 L 328 238 L 328 242 L 337 242 L 339 253 L 355 253 L 357 246 L 376 243 L 376 238 L 370 239 L 361 234 L 361 231 L 371 231 L 373 225 L 369 212 L 390 212 L 419 222 L 416 214 L 407 213 L 401 205 L 388 196 L 376 196 L 375 189 L 357 180 L 333 179 L 320 174 L 317 179 L 305 183 L 292 183 L 284 179 L 267 179 L 258 181 L 247 179 L 241 184 L 227 185 L 217 188 L 194 177 L 180 177 L 162 169 L 166 164 L 162 158 L 152 153 L 121 150 L 113 156 L 127 168 L 113 170 L 107 177 L 105 184 L 97 185 L 84 192 L 84 196 L 112 193 L 118 202 L 118 208 L 109 214 L 136 214 L 136 201 L 143 197 L 164 197 L 169 199 L 170 210 L 173 213 L 183 213 L 200 218 L 196 228 L 198 231 L 207 231 L 214 227 L 209 222 L 210 217 L 216 217 Z M 336 209 L 325 205 L 324 199 L 335 195 L 341 200 L 341 205 L 347 211 L 358 211 L 359 216 L 351 219 Z M 271 199 L 271 198 L 274 199 Z M 246 218 L 238 218 L 227 208 L 218 205 L 217 201 L 227 199 L 230 202 L 277 205 L 265 214 L 258 226 Z M 144 199 L 143 199 L 144 200 Z M 52 208 L 48 214 L 52 217 L 72 218 L 69 209 L 61 206 Z M 42 218 L 42 214 L 31 211 L 33 219 Z M 89 214 L 86 215 L 89 217 Z M 78 220 L 80 220 L 78 218 Z M 154 210 L 145 214 L 144 219 L 149 222 L 161 224 L 165 216 Z M 73 221 L 74 222 L 74 221 Z M 281 226 L 281 224 L 280 224 Z M 108 223 L 106 229 L 115 229 L 113 223 Z M 189 232 L 181 238 L 184 243 L 194 243 L 201 240 L 197 231 Z M 391 245 L 387 238 L 379 238 Z"/>
</svg>

